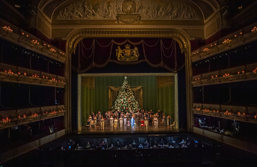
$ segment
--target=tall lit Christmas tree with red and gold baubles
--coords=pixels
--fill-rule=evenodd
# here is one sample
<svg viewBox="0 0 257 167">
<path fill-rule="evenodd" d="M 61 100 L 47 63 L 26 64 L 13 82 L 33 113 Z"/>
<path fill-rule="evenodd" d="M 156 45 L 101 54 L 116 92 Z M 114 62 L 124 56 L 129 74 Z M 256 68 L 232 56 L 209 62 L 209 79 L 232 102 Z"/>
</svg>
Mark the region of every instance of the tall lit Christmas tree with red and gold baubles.
<svg viewBox="0 0 257 167">
<path fill-rule="evenodd" d="M 124 112 L 125 110 L 135 111 L 140 109 L 140 106 L 136 101 L 135 96 L 133 95 L 130 85 L 126 79 L 127 77 L 125 77 L 121 90 L 117 96 L 114 106 L 112 107 L 115 111 L 120 110 L 121 112 Z"/>
</svg>

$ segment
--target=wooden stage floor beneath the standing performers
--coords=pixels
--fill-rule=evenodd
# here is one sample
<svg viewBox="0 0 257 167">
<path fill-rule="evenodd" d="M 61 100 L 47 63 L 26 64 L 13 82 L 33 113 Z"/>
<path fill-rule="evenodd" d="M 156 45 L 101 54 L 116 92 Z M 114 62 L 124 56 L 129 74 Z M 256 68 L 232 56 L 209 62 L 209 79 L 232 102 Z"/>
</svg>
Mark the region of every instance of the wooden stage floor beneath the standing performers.
<svg viewBox="0 0 257 167">
<path fill-rule="evenodd" d="M 96 126 L 99 126 L 98 124 Z M 82 126 L 82 130 L 81 131 L 72 131 L 72 133 L 75 134 L 88 134 L 88 133 L 169 133 L 169 132 L 179 132 L 179 131 L 183 131 L 185 132 L 185 130 L 182 129 L 170 129 L 168 128 L 168 126 L 162 126 L 159 125 L 158 128 L 154 128 L 154 125 L 152 126 L 148 126 L 147 129 L 145 128 L 145 126 L 140 126 L 140 124 L 137 126 L 135 126 L 135 129 L 131 129 L 131 126 L 126 126 L 123 125 L 123 127 L 120 127 L 120 125 L 118 124 L 117 129 L 114 129 L 114 127 L 106 127 L 106 122 L 104 124 L 104 129 L 101 129 L 101 125 L 99 127 L 90 127 L 90 129 L 85 129 L 85 126 Z"/>
</svg>

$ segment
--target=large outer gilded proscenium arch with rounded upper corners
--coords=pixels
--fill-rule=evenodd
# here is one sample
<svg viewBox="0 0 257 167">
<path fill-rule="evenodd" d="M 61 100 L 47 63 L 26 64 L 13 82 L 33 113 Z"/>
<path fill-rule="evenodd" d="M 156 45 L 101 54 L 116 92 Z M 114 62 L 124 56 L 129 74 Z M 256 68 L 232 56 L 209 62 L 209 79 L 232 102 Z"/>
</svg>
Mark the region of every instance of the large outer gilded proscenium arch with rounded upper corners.
<svg viewBox="0 0 257 167">
<path fill-rule="evenodd" d="M 192 131 L 192 84 L 191 84 L 191 48 L 190 41 L 185 33 L 175 28 L 81 28 L 74 31 L 66 43 L 66 78 L 65 85 L 65 117 L 66 133 L 71 132 L 71 54 L 75 53 L 78 42 L 84 38 L 172 38 L 176 40 L 185 53 L 186 66 L 186 99 L 187 99 L 187 129 Z M 79 99 L 78 99 L 79 100 Z"/>
</svg>

